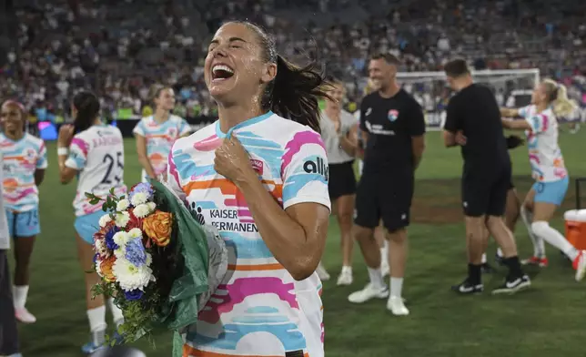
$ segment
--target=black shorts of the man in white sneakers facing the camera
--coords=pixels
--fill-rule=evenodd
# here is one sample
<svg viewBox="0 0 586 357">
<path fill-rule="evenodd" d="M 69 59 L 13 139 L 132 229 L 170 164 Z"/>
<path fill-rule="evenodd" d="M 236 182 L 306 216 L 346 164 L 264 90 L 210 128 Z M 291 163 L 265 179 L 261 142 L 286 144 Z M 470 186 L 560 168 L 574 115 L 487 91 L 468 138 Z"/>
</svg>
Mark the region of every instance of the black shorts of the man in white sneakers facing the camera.
<svg viewBox="0 0 586 357">
<path fill-rule="evenodd" d="M 379 221 L 389 231 L 409 226 L 413 175 L 364 173 L 356 191 L 356 218 L 360 227 L 374 229 Z"/>
</svg>

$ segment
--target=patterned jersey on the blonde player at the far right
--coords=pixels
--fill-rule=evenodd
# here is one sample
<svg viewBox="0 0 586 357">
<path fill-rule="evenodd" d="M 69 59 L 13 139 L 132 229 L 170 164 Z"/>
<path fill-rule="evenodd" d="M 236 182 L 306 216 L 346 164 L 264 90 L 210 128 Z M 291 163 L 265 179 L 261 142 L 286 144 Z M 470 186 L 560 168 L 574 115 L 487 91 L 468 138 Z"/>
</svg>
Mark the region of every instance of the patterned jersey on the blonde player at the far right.
<svg viewBox="0 0 586 357">
<path fill-rule="evenodd" d="M 519 115 L 531 128 L 525 134 L 533 179 L 549 182 L 568 176 L 558 145 L 558 120 L 551 108 L 537 113 L 537 108 L 530 105 L 520 108 Z"/>
</svg>

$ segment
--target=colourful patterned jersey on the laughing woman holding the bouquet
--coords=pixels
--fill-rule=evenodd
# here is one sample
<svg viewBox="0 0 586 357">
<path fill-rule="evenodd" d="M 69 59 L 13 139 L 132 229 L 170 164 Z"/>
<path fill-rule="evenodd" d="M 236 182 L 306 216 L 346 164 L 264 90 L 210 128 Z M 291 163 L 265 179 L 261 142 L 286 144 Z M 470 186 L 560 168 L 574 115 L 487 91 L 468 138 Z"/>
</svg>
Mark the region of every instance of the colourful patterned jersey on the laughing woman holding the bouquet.
<svg viewBox="0 0 586 357">
<path fill-rule="evenodd" d="M 317 202 L 329 208 L 328 160 L 318 133 L 268 112 L 231 135 L 281 207 Z M 319 278 L 291 277 L 260 237 L 242 193 L 217 174 L 215 149 L 225 137 L 217 122 L 177 140 L 169 156 L 169 183 L 201 224 L 219 230 L 229 257 L 225 281 L 199 313 L 197 329 L 186 332 L 184 356 L 323 356 Z"/>
</svg>

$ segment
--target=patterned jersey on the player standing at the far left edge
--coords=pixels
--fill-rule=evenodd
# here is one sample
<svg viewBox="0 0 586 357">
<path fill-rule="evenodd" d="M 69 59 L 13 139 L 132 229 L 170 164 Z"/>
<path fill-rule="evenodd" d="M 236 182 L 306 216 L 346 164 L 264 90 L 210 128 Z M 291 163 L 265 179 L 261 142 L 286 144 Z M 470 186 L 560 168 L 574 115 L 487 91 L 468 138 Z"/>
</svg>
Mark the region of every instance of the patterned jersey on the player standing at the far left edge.
<svg viewBox="0 0 586 357">
<path fill-rule="evenodd" d="M 5 209 L 25 212 L 38 207 L 35 171 L 47 168 L 45 142 L 26 134 L 18 141 L 0 134 L 0 150 L 4 155 Z"/>
</svg>

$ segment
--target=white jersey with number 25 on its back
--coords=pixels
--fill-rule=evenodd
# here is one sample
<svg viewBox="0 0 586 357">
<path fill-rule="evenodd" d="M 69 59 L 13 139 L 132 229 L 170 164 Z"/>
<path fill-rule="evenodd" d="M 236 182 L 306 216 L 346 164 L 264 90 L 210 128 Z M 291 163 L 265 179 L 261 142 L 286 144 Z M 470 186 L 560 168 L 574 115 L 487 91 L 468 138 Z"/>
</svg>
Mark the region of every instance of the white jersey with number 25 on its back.
<svg viewBox="0 0 586 357">
<path fill-rule="evenodd" d="M 76 199 L 73 205 L 76 216 L 94 213 L 103 202 L 91 205 L 86 192 L 106 198 L 110 189 L 116 196 L 126 192 L 124 184 L 124 144 L 116 127 L 96 125 L 78 134 L 71 141 L 67 168 L 79 170 Z"/>
</svg>

